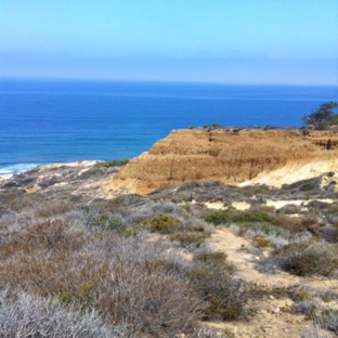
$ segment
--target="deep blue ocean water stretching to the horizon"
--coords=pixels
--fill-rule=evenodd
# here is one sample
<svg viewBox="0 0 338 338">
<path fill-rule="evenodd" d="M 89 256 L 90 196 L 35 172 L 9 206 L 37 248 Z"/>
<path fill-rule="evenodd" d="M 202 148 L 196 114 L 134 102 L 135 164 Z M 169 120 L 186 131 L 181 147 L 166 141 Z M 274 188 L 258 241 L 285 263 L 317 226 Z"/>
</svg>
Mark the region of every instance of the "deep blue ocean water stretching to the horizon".
<svg viewBox="0 0 338 338">
<path fill-rule="evenodd" d="M 1 79 L 0 176 L 49 162 L 132 158 L 172 129 L 300 127 L 337 87 Z"/>
</svg>

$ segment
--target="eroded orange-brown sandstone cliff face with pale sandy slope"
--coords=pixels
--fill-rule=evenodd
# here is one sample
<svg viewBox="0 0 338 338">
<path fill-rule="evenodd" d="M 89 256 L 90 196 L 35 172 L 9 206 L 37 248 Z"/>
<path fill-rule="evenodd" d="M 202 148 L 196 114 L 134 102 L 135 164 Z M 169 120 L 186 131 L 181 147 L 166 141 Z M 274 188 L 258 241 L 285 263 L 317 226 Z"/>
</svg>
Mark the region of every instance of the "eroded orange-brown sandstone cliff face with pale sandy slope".
<svg viewBox="0 0 338 338">
<path fill-rule="evenodd" d="M 103 188 L 144 194 L 162 185 L 205 180 L 276 186 L 337 169 L 337 155 L 334 131 L 306 135 L 298 129 L 174 130 Z"/>
</svg>

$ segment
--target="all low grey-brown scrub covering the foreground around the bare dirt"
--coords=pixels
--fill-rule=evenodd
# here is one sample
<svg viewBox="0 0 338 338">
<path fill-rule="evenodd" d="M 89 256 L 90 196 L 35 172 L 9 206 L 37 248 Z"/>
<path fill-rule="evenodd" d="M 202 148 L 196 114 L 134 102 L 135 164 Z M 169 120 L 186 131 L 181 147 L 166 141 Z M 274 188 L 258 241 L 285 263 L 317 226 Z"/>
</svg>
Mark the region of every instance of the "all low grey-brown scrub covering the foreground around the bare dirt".
<svg viewBox="0 0 338 338">
<path fill-rule="evenodd" d="M 100 162 L 92 170 L 110 166 L 118 164 Z M 337 278 L 338 204 L 291 203 L 317 196 L 318 185 L 312 183 L 272 191 L 193 182 L 87 203 L 65 190 L 28 194 L 6 186 L 0 192 L 0 337 L 18 332 L 27 337 L 234 337 L 204 322 L 247 321 L 266 295 L 291 297 L 290 312 L 320 318 L 318 333 L 337 333 L 337 313 L 317 311 L 322 302 L 338 299 L 335 291 L 263 289 L 239 278 L 227 257 L 209 245 L 212 231 L 226 226 L 249 239 L 244 249 L 259 256 L 262 272 Z M 265 200 L 276 196 L 289 204 L 268 207 Z M 233 208 L 236 200 L 248 209 Z M 205 202 L 226 210 L 211 211 Z"/>
</svg>

